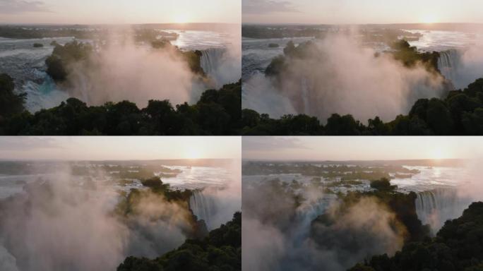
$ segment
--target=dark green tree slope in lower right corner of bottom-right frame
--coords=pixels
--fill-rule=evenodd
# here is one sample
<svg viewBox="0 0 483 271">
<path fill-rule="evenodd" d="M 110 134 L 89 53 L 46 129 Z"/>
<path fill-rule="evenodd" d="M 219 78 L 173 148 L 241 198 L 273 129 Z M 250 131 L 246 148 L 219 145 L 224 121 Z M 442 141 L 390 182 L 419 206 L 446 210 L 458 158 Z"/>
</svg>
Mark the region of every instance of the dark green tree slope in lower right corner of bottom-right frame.
<svg viewBox="0 0 483 271">
<path fill-rule="evenodd" d="M 407 243 L 393 257 L 374 256 L 350 270 L 366 266 L 376 271 L 473 271 L 482 270 L 482 263 L 483 203 L 478 202 L 448 220 L 434 239 Z"/>
</svg>

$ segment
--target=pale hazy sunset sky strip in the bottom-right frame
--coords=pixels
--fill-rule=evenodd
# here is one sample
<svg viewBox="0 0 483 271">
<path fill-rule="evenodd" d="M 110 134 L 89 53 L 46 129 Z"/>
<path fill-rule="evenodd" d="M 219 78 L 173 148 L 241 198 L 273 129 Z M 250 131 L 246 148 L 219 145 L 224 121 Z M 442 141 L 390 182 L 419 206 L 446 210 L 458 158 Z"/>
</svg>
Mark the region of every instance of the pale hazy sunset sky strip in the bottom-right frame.
<svg viewBox="0 0 483 271">
<path fill-rule="evenodd" d="M 244 137 L 243 159 L 395 160 L 483 157 L 482 137 Z"/>
</svg>

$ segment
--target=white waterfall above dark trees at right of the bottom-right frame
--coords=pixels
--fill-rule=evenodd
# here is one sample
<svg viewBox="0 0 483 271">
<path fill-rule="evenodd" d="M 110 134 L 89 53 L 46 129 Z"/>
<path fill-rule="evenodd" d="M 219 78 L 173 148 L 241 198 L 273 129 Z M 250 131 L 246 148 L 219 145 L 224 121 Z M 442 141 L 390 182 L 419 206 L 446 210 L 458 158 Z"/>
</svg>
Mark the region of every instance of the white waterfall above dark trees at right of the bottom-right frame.
<svg viewBox="0 0 483 271">
<path fill-rule="evenodd" d="M 439 188 L 417 194 L 416 212 L 422 224 L 436 234 L 448 219 L 460 217 L 472 200 L 458 195 L 454 188 Z"/>
</svg>

